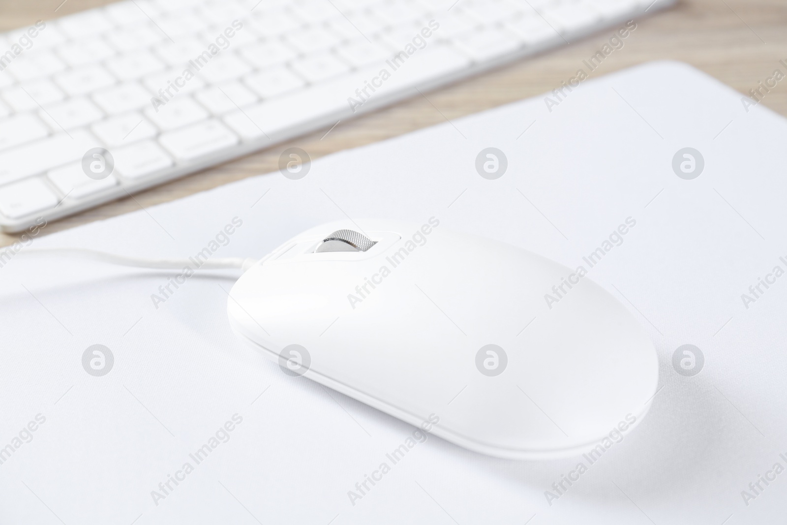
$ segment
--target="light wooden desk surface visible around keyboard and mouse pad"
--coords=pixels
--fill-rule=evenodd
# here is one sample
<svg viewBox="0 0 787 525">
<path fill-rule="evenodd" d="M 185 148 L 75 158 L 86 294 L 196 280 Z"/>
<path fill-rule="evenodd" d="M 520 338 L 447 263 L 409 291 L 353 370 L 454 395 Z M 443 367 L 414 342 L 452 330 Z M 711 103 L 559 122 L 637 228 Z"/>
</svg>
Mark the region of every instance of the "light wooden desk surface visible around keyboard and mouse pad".
<svg viewBox="0 0 787 525">
<path fill-rule="evenodd" d="M 0 0 L 0 30 L 29 25 L 35 20 L 75 13 L 104 5 L 105 0 Z M 55 9 L 57 12 L 55 12 Z M 607 41 L 612 30 L 599 31 L 582 41 L 531 57 L 467 79 L 428 94 L 416 96 L 387 109 L 342 121 L 327 129 L 273 146 L 224 165 L 124 198 L 46 226 L 48 235 L 78 224 L 102 220 L 172 201 L 234 180 L 277 169 L 279 153 L 299 146 L 313 159 L 328 153 L 407 133 L 449 119 L 476 113 L 551 91 L 582 67 L 582 60 Z M 787 61 L 787 2 L 785 0 L 680 0 L 677 6 L 637 20 L 637 30 L 591 75 L 601 76 L 645 61 L 673 59 L 715 76 L 741 93 L 748 93 L 760 80 Z M 767 94 L 763 104 L 787 116 L 787 82 Z M 442 115 L 441 115 L 442 113 Z M 0 246 L 15 235 L 0 234 Z"/>
</svg>

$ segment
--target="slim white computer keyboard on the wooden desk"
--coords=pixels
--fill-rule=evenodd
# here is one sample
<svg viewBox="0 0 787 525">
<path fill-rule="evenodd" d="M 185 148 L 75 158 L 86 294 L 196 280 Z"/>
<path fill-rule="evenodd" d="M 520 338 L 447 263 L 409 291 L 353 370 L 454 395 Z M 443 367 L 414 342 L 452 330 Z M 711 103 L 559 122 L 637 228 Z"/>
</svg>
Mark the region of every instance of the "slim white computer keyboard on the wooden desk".
<svg viewBox="0 0 787 525">
<path fill-rule="evenodd" d="M 671 3 L 129 0 L 10 31 L 0 227 L 133 194 Z"/>
</svg>

